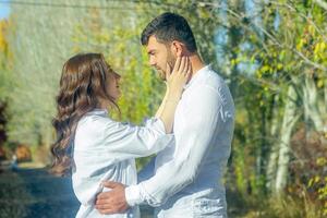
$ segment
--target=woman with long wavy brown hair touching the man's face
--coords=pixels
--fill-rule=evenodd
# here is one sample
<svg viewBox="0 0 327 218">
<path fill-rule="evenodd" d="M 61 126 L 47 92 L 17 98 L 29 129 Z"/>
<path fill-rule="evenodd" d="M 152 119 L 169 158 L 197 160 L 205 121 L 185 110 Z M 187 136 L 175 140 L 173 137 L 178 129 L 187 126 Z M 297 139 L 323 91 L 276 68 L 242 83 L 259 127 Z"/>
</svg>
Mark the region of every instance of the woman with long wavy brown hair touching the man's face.
<svg viewBox="0 0 327 218">
<path fill-rule="evenodd" d="M 145 126 L 132 126 L 108 117 L 117 108 L 120 76 L 100 53 L 77 55 L 63 65 L 58 116 L 53 120 L 57 142 L 51 152 L 52 171 L 71 174 L 81 202 L 76 217 L 102 217 L 95 209 L 96 195 L 105 180 L 131 185 L 136 183 L 134 158 L 162 149 L 171 140 L 173 114 L 191 74 L 189 59 L 179 58 L 167 73 L 167 92 L 156 117 Z M 138 208 L 108 217 L 138 217 Z"/>
</svg>

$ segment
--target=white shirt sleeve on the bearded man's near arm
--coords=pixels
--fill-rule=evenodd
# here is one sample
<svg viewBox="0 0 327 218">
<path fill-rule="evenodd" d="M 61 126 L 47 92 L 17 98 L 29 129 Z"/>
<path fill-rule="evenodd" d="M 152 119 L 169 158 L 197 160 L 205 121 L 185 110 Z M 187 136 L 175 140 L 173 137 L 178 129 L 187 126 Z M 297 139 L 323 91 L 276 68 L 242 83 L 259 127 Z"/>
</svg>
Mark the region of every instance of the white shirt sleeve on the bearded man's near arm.
<svg viewBox="0 0 327 218">
<path fill-rule="evenodd" d="M 175 134 L 177 152 L 169 162 L 157 169 L 156 174 L 137 185 L 125 189 L 130 206 L 146 203 L 160 206 L 195 179 L 206 152 L 211 146 L 213 135 L 223 122 L 219 119 L 222 110 L 222 98 L 217 90 L 206 87 L 192 96 L 192 106 L 182 116 L 192 124 L 183 125 Z"/>
</svg>

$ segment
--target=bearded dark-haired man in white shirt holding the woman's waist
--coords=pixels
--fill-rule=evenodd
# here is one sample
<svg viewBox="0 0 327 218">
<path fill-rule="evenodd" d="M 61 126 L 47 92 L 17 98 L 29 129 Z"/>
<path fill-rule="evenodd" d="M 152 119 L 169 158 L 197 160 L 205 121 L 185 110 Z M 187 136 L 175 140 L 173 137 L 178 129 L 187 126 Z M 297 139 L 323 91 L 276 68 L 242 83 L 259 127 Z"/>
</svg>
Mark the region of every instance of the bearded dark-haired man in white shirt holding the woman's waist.
<svg viewBox="0 0 327 218">
<path fill-rule="evenodd" d="M 102 214 L 114 214 L 146 203 L 157 207 L 157 217 L 227 217 L 222 177 L 234 122 L 229 88 L 202 61 L 184 17 L 159 15 L 143 31 L 141 40 L 161 78 L 177 57 L 186 56 L 192 63 L 192 77 L 175 111 L 175 142 L 140 173 L 137 185 L 105 183 L 112 190 L 98 195 L 96 207 Z"/>
</svg>

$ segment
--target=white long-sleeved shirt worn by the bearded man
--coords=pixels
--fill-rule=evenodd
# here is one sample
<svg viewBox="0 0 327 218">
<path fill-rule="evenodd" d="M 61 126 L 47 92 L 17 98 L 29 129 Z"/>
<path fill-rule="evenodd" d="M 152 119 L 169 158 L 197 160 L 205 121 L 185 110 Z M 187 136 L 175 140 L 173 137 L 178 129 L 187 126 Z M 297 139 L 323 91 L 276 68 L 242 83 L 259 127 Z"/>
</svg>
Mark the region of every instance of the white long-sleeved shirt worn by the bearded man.
<svg viewBox="0 0 327 218">
<path fill-rule="evenodd" d="M 227 217 L 222 177 L 231 150 L 234 104 L 209 65 L 185 86 L 174 116 L 174 142 L 125 189 L 130 206 L 158 207 L 158 217 Z"/>
</svg>

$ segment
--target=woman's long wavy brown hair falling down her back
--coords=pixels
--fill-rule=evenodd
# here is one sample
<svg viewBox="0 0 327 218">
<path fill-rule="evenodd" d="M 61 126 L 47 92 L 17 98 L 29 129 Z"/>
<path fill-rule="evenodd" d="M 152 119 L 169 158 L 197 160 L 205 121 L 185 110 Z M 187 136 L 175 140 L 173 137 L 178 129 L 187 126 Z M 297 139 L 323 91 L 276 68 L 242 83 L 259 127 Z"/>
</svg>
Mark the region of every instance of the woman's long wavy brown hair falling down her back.
<svg viewBox="0 0 327 218">
<path fill-rule="evenodd" d="M 57 140 L 51 145 L 53 162 L 51 172 L 69 175 L 74 166 L 73 137 L 80 119 L 107 101 L 119 110 L 114 99 L 107 93 L 109 74 L 117 75 L 101 53 L 82 53 L 69 59 L 60 78 L 57 96 L 57 117 L 52 125 Z"/>
</svg>

